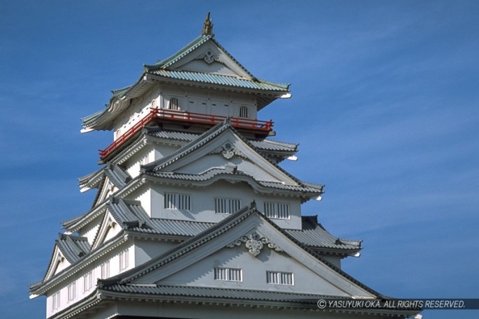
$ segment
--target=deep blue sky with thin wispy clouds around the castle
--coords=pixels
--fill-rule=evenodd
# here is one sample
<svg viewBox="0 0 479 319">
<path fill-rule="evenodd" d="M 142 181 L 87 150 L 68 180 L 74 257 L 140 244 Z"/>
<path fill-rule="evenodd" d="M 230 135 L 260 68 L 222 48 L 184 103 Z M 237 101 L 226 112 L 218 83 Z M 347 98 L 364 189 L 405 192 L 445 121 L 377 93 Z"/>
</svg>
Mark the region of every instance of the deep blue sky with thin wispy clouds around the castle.
<svg viewBox="0 0 479 319">
<path fill-rule="evenodd" d="M 110 90 L 200 34 L 256 77 L 290 82 L 272 103 L 277 140 L 299 142 L 293 175 L 326 184 L 318 214 L 364 239 L 346 272 L 394 297 L 479 297 L 479 2 L 0 1 L 0 308 L 28 299 L 60 221 L 87 212 L 77 179 L 111 132 L 80 134 Z M 476 318 L 478 311 L 425 311 Z"/>
</svg>

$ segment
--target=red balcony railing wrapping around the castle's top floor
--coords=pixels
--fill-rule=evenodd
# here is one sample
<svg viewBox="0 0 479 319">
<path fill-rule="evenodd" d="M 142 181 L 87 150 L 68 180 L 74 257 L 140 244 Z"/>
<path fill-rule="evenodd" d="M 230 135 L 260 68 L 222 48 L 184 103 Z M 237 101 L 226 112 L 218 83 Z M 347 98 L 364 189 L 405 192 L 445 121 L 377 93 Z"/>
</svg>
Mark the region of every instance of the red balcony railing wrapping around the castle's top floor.
<svg viewBox="0 0 479 319">
<path fill-rule="evenodd" d="M 112 154 L 121 144 L 129 140 L 133 135 L 138 133 L 143 126 L 152 121 L 152 119 L 165 119 L 168 121 L 177 121 L 184 123 L 216 125 L 224 121 L 228 117 L 215 114 L 202 114 L 194 112 L 185 112 L 181 110 L 165 110 L 159 108 L 152 108 L 149 114 L 141 119 L 137 124 L 128 129 L 123 135 L 117 138 L 112 144 L 108 145 L 106 149 L 100 149 L 100 158 L 104 159 Z M 231 126 L 240 129 L 260 131 L 262 133 L 269 133 L 273 126 L 273 121 L 259 121 L 257 119 L 246 119 L 242 117 L 229 117 Z"/>
</svg>

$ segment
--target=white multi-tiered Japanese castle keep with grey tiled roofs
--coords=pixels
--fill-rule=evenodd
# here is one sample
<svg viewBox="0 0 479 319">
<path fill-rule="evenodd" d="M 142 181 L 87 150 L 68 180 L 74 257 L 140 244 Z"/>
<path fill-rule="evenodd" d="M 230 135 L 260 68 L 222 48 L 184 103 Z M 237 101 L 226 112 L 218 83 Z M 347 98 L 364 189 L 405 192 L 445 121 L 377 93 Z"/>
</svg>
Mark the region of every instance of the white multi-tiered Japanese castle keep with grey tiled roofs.
<svg viewBox="0 0 479 319">
<path fill-rule="evenodd" d="M 47 318 L 409 318 L 419 310 L 320 309 L 319 299 L 384 300 L 341 270 L 361 242 L 331 235 L 301 205 L 323 186 L 279 163 L 258 111 L 290 97 L 201 35 L 82 119 L 113 131 L 88 212 L 62 223 L 44 278 Z"/>
</svg>

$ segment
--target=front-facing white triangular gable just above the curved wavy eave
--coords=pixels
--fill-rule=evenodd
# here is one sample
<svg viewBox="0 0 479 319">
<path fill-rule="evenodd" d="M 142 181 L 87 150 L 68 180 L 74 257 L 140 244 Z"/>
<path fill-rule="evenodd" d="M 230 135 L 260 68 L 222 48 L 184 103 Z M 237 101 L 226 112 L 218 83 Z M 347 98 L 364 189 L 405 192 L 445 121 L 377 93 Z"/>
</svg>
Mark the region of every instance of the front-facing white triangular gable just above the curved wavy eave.
<svg viewBox="0 0 479 319">
<path fill-rule="evenodd" d="M 217 156 L 218 154 L 219 156 Z M 232 158 L 235 156 L 236 160 L 233 161 Z M 258 180 L 288 185 L 299 184 L 297 179 L 260 155 L 226 122 L 214 126 L 174 154 L 144 165 L 143 170 L 199 174 L 210 168 L 225 168 L 235 164 L 237 165 L 236 170 L 258 178 Z"/>
</svg>

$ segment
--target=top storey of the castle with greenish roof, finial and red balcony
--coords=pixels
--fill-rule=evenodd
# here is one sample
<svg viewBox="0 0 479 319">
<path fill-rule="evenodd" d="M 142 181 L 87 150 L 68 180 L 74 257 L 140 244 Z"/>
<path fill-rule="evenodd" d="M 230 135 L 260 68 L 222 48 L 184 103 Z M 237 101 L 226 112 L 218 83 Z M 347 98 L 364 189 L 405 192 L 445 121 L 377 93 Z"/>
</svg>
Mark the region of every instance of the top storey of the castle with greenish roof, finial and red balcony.
<svg viewBox="0 0 479 319">
<path fill-rule="evenodd" d="M 258 119 L 258 111 L 289 98 L 289 84 L 253 76 L 216 41 L 212 28 L 208 14 L 198 38 L 145 65 L 138 81 L 112 91 L 105 109 L 82 119 L 82 132 L 114 132 L 112 144 L 101 151 L 103 161 L 152 121 L 165 129 L 202 133 L 229 118 L 248 138 L 274 134 L 273 121 Z"/>
</svg>

